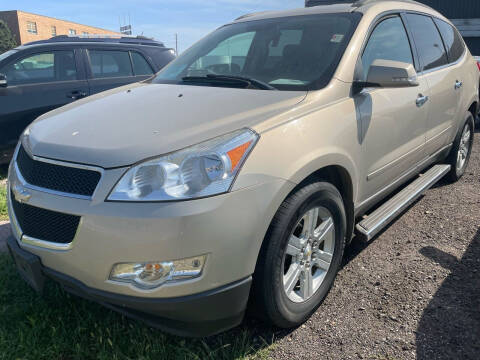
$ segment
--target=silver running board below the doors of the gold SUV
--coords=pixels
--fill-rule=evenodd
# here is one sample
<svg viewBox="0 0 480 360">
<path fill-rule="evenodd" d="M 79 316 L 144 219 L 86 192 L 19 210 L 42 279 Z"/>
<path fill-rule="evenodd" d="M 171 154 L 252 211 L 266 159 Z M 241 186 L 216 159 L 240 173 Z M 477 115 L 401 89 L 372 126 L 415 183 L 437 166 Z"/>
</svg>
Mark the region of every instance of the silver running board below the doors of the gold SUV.
<svg viewBox="0 0 480 360">
<path fill-rule="evenodd" d="M 426 173 L 357 224 L 357 232 L 371 240 L 402 211 L 422 196 L 449 171 L 450 165 L 435 165 Z"/>
</svg>

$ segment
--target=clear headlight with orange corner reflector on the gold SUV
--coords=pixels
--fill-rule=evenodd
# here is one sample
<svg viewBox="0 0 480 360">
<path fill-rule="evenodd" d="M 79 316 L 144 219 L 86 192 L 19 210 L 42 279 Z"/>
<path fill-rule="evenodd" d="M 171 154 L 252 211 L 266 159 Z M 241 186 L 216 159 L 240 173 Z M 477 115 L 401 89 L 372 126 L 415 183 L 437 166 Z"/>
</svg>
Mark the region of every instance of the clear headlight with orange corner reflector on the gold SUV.
<svg viewBox="0 0 480 360">
<path fill-rule="evenodd" d="M 130 168 L 110 201 L 174 201 L 228 192 L 258 140 L 243 129 Z"/>
</svg>

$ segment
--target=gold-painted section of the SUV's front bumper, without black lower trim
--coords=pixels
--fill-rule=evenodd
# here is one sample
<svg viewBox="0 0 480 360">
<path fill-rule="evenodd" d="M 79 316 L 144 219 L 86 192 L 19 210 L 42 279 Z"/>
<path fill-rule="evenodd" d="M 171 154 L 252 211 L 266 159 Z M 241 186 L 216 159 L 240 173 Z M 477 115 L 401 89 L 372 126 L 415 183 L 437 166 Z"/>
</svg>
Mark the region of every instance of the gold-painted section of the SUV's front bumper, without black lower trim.
<svg viewBox="0 0 480 360">
<path fill-rule="evenodd" d="M 13 180 L 13 181 L 12 181 Z M 15 177 L 9 177 L 9 187 Z M 24 250 L 47 268 L 86 286 L 119 295 L 171 298 L 202 293 L 253 274 L 279 193 L 290 190 L 278 180 L 195 201 L 112 203 L 82 200 L 29 189 L 30 206 L 81 217 L 73 242 L 64 248 L 30 242 L 16 225 L 13 233 Z M 289 184 L 288 184 L 289 185 Z M 10 192 L 8 192 L 10 196 Z M 118 263 L 174 261 L 206 255 L 202 275 L 142 290 L 109 280 Z"/>
</svg>

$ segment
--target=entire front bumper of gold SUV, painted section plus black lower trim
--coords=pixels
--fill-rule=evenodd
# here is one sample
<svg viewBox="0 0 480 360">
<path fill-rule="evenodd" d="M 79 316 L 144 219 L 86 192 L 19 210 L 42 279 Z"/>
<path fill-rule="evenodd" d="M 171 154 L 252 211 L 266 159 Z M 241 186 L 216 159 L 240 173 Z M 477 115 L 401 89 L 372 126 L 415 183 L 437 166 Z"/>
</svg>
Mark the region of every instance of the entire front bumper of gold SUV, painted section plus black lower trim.
<svg viewBox="0 0 480 360">
<path fill-rule="evenodd" d="M 30 186 L 12 162 L 7 194 L 17 247 L 38 258 L 37 273 L 63 284 L 67 291 L 167 331 L 203 336 L 237 325 L 246 309 L 265 233 L 295 185 L 263 176 L 255 177 L 250 186 L 192 201 L 105 201 L 124 172 L 105 170 L 93 196 L 83 199 Z M 11 189 L 15 196 L 28 192 L 28 206 L 78 216 L 73 241 L 52 247 L 24 234 L 13 211 Z M 156 289 L 109 279 L 118 263 L 200 255 L 206 255 L 201 276 Z"/>
</svg>

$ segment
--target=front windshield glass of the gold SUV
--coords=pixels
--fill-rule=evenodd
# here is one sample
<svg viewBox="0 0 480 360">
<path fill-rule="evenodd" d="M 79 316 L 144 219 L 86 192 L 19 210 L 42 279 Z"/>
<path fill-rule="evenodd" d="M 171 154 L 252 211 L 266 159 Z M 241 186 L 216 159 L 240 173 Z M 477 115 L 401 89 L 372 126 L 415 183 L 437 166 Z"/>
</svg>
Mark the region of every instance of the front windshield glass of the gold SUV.
<svg viewBox="0 0 480 360">
<path fill-rule="evenodd" d="M 360 17 L 332 13 L 226 25 L 185 51 L 152 82 L 234 86 L 212 76 L 224 75 L 278 90 L 320 89 L 332 78 Z M 192 83 L 192 78 L 208 81 Z"/>
</svg>

